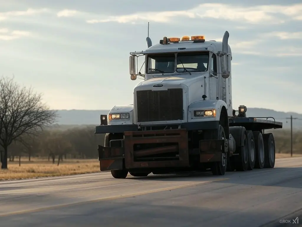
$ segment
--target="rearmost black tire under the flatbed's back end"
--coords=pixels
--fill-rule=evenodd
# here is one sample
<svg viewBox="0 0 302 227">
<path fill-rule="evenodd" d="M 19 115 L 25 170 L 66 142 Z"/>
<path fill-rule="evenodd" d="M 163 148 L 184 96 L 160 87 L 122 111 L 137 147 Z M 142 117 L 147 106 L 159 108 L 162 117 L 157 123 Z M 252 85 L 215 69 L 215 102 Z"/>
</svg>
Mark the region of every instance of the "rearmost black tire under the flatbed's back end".
<svg viewBox="0 0 302 227">
<path fill-rule="evenodd" d="M 272 133 L 263 134 L 264 144 L 264 168 L 274 168 L 275 166 L 275 138 Z"/>
</svg>

